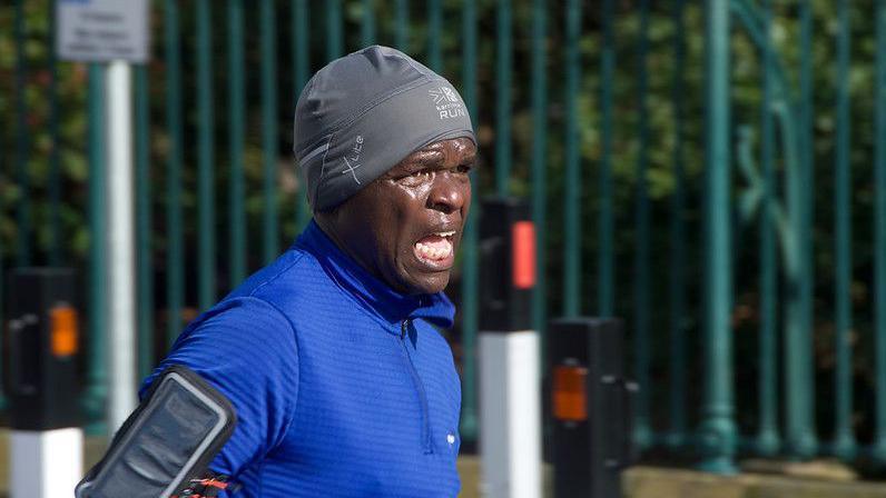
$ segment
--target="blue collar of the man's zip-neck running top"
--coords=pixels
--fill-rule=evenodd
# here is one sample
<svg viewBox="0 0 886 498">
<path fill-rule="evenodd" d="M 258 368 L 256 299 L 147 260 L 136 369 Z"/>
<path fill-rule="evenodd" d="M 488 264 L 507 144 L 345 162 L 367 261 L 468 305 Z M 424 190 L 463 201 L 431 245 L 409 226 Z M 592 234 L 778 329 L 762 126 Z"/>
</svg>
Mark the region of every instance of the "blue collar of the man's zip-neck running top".
<svg viewBox="0 0 886 498">
<path fill-rule="evenodd" d="M 338 249 L 314 220 L 298 236 L 296 247 L 313 255 L 338 287 L 385 321 L 393 325 L 422 318 L 437 327 L 452 327 L 455 307 L 446 295 L 411 296 L 395 291 Z"/>
</svg>

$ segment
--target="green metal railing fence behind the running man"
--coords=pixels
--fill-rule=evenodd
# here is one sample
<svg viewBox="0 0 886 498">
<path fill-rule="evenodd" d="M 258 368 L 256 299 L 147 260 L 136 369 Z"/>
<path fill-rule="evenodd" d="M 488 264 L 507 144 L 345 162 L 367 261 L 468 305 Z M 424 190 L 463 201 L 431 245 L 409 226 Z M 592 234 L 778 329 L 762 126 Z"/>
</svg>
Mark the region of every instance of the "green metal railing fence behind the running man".
<svg viewBox="0 0 886 498">
<path fill-rule="evenodd" d="M 868 8 L 156 1 L 134 79 L 139 371 L 307 222 L 288 152 L 298 92 L 381 42 L 462 90 L 475 189 L 531 200 L 542 337 L 554 316 L 624 318 L 643 449 L 717 472 L 739 451 L 886 465 L 886 2 Z M 0 269 L 83 269 L 83 408 L 100 421 L 105 68 L 55 59 L 50 12 L 0 6 Z M 450 289 L 465 440 L 474 220 Z"/>
</svg>

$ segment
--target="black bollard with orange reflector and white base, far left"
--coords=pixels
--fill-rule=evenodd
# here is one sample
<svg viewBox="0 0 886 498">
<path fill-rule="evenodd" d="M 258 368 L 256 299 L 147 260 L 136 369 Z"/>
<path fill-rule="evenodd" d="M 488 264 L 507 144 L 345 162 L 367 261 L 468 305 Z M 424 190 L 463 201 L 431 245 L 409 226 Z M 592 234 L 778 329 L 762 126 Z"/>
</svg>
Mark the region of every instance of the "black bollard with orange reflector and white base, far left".
<svg viewBox="0 0 886 498">
<path fill-rule="evenodd" d="M 12 498 L 71 496 L 82 474 L 75 280 L 73 270 L 60 268 L 9 276 L 3 358 Z"/>
</svg>

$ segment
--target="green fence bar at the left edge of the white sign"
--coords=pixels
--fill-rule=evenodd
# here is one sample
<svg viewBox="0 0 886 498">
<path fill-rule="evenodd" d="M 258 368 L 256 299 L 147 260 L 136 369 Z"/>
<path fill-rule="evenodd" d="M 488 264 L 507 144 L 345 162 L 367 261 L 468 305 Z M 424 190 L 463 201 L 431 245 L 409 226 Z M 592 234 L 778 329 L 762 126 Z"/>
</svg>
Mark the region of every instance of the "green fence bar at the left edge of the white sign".
<svg viewBox="0 0 886 498">
<path fill-rule="evenodd" d="M 61 178 L 59 171 L 59 99 L 58 61 L 56 60 L 56 1 L 49 2 L 49 39 L 47 66 L 49 71 L 49 265 L 61 265 Z M 2 301 L 0 301 L 2 302 Z"/>
</svg>

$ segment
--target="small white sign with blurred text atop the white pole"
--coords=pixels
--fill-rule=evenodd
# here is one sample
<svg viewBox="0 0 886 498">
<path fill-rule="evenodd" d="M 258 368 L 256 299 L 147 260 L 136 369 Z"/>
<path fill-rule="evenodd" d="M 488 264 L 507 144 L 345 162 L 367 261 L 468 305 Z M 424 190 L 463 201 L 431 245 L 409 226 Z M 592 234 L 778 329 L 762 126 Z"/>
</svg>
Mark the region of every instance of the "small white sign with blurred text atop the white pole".
<svg viewBox="0 0 886 498">
<path fill-rule="evenodd" d="M 148 0 L 58 0 L 56 50 L 83 62 L 146 62 Z"/>
</svg>

